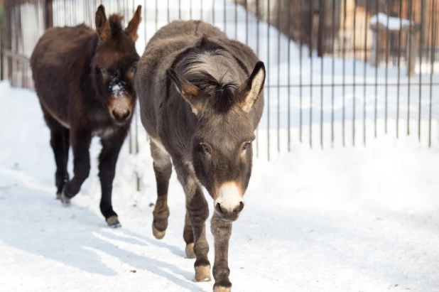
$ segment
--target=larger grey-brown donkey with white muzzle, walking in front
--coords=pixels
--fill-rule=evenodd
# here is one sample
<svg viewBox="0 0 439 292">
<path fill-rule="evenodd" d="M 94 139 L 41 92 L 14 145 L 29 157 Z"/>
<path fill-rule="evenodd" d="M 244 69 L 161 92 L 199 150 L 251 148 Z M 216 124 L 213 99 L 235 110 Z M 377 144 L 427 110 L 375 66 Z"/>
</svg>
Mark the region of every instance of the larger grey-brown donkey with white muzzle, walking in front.
<svg viewBox="0 0 439 292">
<path fill-rule="evenodd" d="M 183 237 L 186 255 L 196 257 L 195 280 L 210 279 L 203 185 L 215 200 L 214 291 L 231 291 L 229 238 L 251 175 L 251 141 L 264 108 L 264 64 L 214 26 L 174 21 L 153 36 L 138 67 L 136 92 L 157 180 L 153 234 L 163 238 L 168 226 L 172 158 L 186 195 Z"/>
</svg>

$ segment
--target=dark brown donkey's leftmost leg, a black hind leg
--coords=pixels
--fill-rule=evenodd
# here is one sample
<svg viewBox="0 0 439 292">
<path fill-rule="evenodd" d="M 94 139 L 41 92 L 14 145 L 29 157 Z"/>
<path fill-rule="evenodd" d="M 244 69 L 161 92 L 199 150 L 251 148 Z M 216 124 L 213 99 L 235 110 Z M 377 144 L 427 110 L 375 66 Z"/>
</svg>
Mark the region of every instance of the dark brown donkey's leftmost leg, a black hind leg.
<svg viewBox="0 0 439 292">
<path fill-rule="evenodd" d="M 55 185 L 57 188 L 56 198 L 59 200 L 63 191 L 65 183 L 69 180 L 69 174 L 67 173 L 67 161 L 69 158 L 69 132 L 70 130 L 65 128 L 53 119 L 43 109 L 44 119 L 50 129 L 50 146 L 52 146 L 53 154 L 55 155 L 56 172 L 55 172 Z"/>
</svg>

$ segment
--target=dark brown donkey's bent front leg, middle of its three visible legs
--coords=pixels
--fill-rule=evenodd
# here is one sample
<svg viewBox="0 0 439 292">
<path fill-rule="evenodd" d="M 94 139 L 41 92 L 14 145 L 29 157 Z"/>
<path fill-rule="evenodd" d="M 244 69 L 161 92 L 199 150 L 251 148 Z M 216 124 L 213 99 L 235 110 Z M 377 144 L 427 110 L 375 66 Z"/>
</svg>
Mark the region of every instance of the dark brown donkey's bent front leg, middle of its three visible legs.
<svg viewBox="0 0 439 292">
<path fill-rule="evenodd" d="M 61 194 L 61 202 L 64 206 L 70 205 L 70 199 L 80 192 L 82 183 L 90 173 L 90 142 L 92 134 L 87 130 L 71 129 L 70 141 L 73 151 L 73 173 L 72 180 L 69 180 Z"/>
</svg>

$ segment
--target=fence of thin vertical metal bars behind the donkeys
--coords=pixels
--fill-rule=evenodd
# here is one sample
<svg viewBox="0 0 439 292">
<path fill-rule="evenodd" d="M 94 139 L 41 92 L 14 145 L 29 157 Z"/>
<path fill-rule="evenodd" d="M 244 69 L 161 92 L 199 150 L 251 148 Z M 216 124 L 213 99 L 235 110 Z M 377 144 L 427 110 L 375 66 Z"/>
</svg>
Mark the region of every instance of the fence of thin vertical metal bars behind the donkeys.
<svg viewBox="0 0 439 292">
<path fill-rule="evenodd" d="M 366 145 L 384 135 L 416 136 L 430 146 L 439 140 L 437 2 L 5 0 L 1 78 L 33 88 L 28 58 L 46 28 L 93 27 L 101 3 L 126 18 L 142 4 L 139 54 L 161 26 L 196 18 L 246 43 L 264 61 L 259 156 L 270 158 L 298 143 Z"/>
</svg>

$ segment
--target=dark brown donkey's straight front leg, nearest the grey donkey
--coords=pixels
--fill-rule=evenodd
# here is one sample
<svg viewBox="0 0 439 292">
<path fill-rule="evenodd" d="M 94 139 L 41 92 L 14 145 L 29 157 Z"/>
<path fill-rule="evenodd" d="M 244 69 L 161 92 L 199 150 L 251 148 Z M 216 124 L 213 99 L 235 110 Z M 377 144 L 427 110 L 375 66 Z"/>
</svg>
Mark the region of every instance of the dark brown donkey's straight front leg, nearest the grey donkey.
<svg viewBox="0 0 439 292">
<path fill-rule="evenodd" d="M 101 139 L 102 151 L 99 155 L 99 180 L 101 181 L 102 197 L 99 205 L 102 215 L 109 227 L 121 227 L 119 218 L 113 210 L 112 192 L 119 151 L 126 136 L 125 131 Z"/>
</svg>

